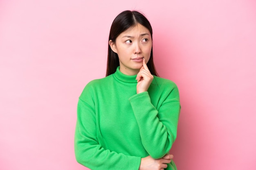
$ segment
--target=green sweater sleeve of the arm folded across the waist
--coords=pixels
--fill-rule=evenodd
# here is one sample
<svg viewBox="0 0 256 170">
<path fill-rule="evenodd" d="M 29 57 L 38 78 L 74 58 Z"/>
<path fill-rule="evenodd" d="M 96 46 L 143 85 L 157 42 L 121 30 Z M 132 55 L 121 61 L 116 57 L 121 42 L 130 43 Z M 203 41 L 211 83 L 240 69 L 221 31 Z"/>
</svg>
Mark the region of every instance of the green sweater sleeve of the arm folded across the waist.
<svg viewBox="0 0 256 170">
<path fill-rule="evenodd" d="M 90 98 L 90 97 L 88 97 Z M 88 101 L 90 101 L 88 99 Z M 92 170 L 138 170 L 141 158 L 104 149 L 97 140 L 97 121 L 93 102 L 79 99 L 75 130 L 76 160 Z"/>
</svg>

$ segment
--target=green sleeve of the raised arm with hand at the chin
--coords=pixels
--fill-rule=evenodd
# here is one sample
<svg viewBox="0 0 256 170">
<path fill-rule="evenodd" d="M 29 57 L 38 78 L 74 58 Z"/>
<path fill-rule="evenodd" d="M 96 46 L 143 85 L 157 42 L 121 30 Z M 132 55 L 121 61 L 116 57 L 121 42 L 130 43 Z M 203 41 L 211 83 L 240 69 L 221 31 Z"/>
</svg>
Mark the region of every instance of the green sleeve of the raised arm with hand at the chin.
<svg viewBox="0 0 256 170">
<path fill-rule="evenodd" d="M 166 87 L 162 87 L 166 88 Z M 162 97 L 157 99 L 155 108 L 148 92 L 129 98 L 137 120 L 141 141 L 148 154 L 154 159 L 169 152 L 177 137 L 177 123 L 180 115 L 180 98 L 177 86 L 173 83 Z"/>
</svg>

